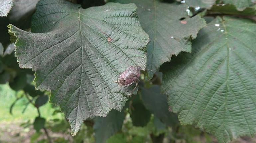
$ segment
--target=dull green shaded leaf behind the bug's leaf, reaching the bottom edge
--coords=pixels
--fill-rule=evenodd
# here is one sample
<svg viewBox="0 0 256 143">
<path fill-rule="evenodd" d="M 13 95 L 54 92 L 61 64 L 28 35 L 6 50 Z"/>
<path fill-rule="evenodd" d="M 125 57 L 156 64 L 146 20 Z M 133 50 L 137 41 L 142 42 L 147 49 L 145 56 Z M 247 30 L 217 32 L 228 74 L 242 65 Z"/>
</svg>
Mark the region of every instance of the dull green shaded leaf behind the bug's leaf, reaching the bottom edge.
<svg viewBox="0 0 256 143">
<path fill-rule="evenodd" d="M 93 129 L 96 143 L 105 143 L 106 140 L 122 128 L 125 118 L 124 111 L 111 110 L 107 117 L 96 117 Z"/>
</svg>

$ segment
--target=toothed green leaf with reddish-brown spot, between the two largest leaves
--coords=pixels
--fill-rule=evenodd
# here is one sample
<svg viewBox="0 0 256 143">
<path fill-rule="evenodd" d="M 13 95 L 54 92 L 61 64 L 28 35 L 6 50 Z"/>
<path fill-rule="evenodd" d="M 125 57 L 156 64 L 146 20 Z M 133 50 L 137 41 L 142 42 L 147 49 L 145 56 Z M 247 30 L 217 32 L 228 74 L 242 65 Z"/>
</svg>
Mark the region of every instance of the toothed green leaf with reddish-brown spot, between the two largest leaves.
<svg viewBox="0 0 256 143">
<path fill-rule="evenodd" d="M 149 77 L 172 55 L 191 52 L 191 39 L 206 25 L 200 16 L 188 17 L 187 5 L 160 0 L 111 0 L 135 3 L 142 28 L 149 34 L 147 70 Z M 180 21 L 181 18 L 186 18 Z"/>
</svg>

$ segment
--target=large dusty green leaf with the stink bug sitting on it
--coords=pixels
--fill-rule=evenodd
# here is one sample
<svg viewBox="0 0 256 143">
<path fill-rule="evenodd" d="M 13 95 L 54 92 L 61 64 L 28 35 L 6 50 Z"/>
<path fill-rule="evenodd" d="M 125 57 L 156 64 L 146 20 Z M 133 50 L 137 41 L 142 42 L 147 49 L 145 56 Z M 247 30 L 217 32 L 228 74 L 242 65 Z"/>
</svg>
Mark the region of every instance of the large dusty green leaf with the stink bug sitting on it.
<svg viewBox="0 0 256 143">
<path fill-rule="evenodd" d="M 148 35 L 134 4 L 108 3 L 79 8 L 64 0 L 41 0 L 32 18 L 32 32 L 9 25 L 22 68 L 32 68 L 35 86 L 51 90 L 72 135 L 84 120 L 121 111 L 132 87 L 119 87 L 119 74 L 129 65 L 145 68 Z"/>
</svg>

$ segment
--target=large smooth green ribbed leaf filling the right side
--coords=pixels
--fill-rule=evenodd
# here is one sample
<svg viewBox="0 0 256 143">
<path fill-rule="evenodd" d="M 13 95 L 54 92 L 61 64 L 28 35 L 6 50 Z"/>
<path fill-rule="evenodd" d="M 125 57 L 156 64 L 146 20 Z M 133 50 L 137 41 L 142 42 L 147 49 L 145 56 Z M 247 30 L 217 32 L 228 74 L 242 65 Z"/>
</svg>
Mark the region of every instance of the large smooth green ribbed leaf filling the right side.
<svg viewBox="0 0 256 143">
<path fill-rule="evenodd" d="M 256 24 L 217 17 L 163 74 L 162 91 L 182 124 L 229 142 L 256 132 Z"/>
</svg>

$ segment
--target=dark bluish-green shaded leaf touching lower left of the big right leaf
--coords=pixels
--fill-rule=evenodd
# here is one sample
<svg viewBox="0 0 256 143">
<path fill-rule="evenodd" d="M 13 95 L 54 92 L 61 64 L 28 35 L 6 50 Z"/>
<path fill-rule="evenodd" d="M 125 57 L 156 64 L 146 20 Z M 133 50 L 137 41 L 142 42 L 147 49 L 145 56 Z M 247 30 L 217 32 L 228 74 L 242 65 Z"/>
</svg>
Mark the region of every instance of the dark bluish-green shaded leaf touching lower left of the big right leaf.
<svg viewBox="0 0 256 143">
<path fill-rule="evenodd" d="M 160 93 L 159 85 L 142 88 L 141 98 L 146 108 L 168 126 L 178 123 L 177 115 L 171 113 L 167 104 L 167 97 Z"/>
</svg>

